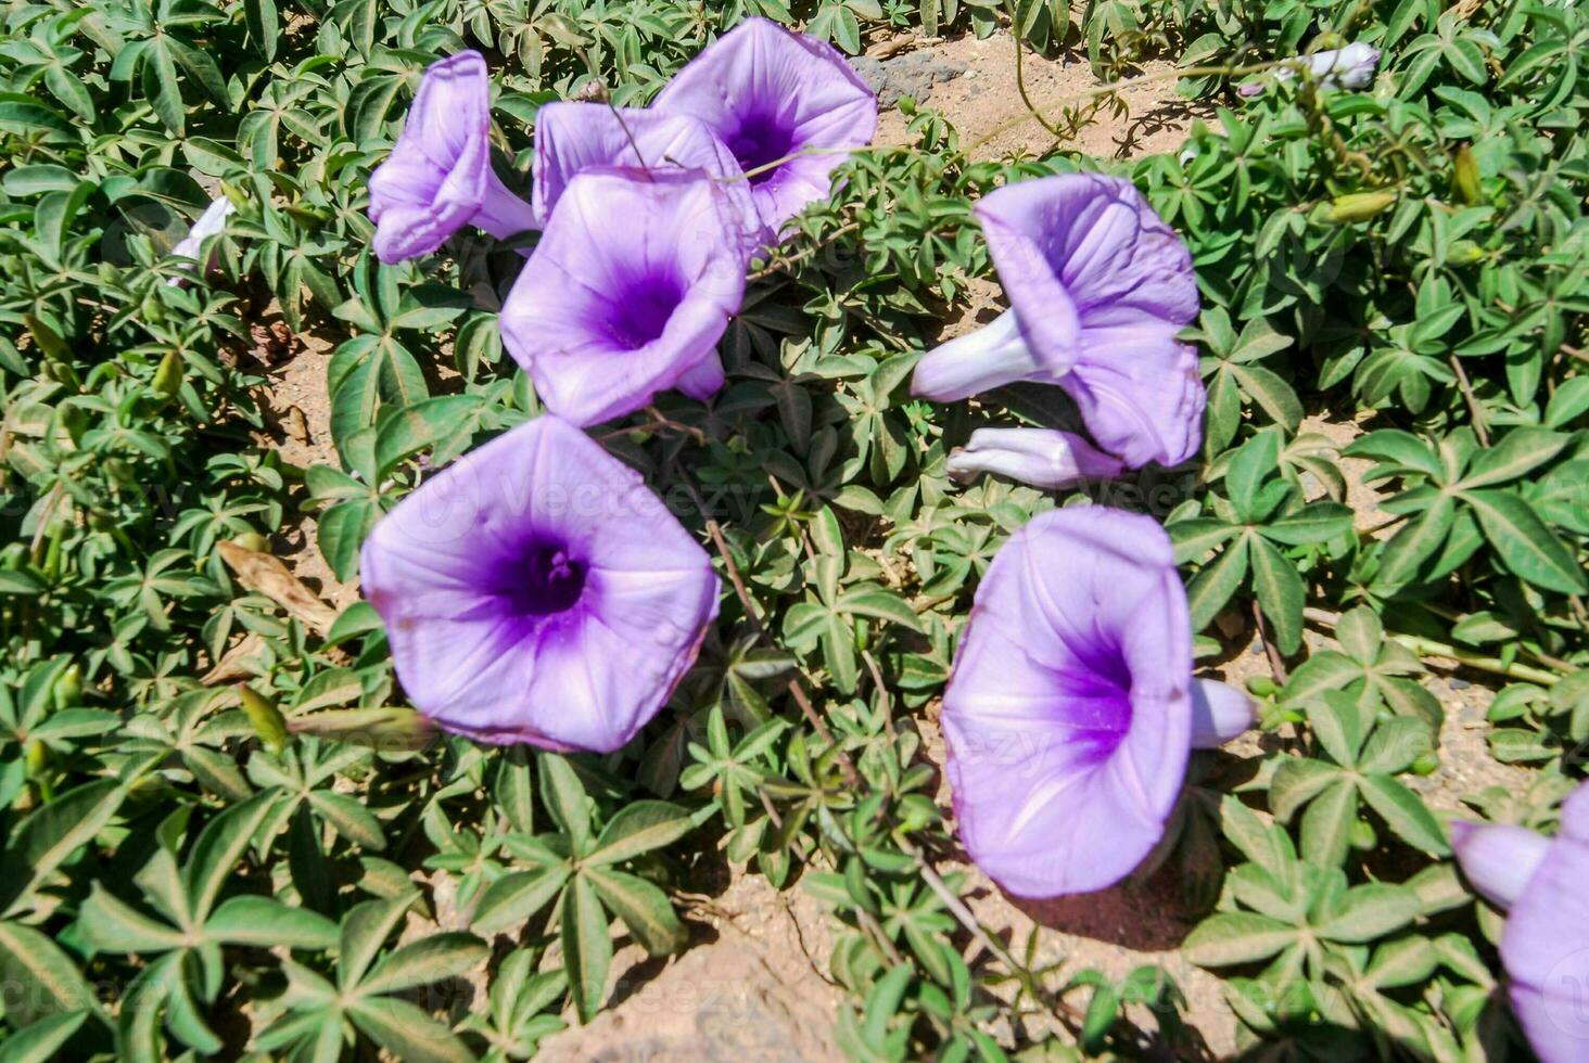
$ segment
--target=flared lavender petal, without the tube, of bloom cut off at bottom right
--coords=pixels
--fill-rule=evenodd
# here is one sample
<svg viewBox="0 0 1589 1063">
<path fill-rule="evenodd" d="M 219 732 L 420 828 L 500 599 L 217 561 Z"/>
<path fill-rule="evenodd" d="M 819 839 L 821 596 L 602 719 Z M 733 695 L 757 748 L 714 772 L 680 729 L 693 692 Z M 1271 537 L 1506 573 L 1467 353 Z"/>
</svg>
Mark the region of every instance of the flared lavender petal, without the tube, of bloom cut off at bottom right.
<svg viewBox="0 0 1589 1063">
<path fill-rule="evenodd" d="M 1589 1058 L 1589 783 L 1562 806 L 1560 829 L 1511 906 L 1500 958 L 1540 1060 Z"/>
</svg>

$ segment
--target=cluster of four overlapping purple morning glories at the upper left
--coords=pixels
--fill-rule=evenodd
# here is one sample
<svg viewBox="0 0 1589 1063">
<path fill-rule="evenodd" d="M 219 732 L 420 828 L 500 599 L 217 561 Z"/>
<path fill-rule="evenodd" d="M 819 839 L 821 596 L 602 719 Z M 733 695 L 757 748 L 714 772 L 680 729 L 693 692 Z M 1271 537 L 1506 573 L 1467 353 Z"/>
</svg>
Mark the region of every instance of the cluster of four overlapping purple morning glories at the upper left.
<svg viewBox="0 0 1589 1063">
<path fill-rule="evenodd" d="M 502 342 L 547 408 L 585 426 L 669 388 L 704 399 L 723 386 L 717 342 L 748 257 L 828 194 L 876 127 L 877 100 L 839 52 L 747 19 L 650 108 L 542 108 L 524 202 L 491 168 L 485 59 L 461 52 L 426 72 L 370 178 L 375 253 L 429 254 L 462 226 L 540 229 Z"/>
</svg>

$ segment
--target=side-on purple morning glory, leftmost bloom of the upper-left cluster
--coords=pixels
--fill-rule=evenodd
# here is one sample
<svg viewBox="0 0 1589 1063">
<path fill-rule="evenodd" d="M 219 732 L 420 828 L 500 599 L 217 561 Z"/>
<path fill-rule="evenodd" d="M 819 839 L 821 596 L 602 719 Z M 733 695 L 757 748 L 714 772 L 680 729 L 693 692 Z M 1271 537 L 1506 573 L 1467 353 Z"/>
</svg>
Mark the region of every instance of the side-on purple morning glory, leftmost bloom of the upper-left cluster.
<svg viewBox="0 0 1589 1063">
<path fill-rule="evenodd" d="M 529 203 L 491 170 L 486 60 L 464 51 L 431 64 L 391 156 L 370 175 L 375 256 L 431 254 L 464 226 L 505 240 L 535 227 Z"/>
</svg>

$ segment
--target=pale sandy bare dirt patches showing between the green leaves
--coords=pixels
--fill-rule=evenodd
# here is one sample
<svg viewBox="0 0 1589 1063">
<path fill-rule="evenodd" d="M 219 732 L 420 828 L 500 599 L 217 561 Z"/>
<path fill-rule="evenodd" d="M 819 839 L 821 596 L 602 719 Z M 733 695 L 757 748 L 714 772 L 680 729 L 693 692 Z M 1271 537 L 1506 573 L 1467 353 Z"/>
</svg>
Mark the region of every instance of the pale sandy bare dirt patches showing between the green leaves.
<svg viewBox="0 0 1589 1063">
<path fill-rule="evenodd" d="M 872 56 L 856 65 L 872 83 L 885 110 L 877 140 L 904 143 L 906 118 L 893 108 L 909 95 L 942 111 L 960 130 L 961 145 L 976 159 L 1039 156 L 1054 149 L 1076 149 L 1103 157 L 1138 157 L 1176 149 L 1190 122 L 1201 111 L 1174 95 L 1171 79 L 1136 84 L 1123 94 L 1125 116 L 1112 116 L 1084 129 L 1074 140 L 1057 143 L 1031 119 L 1015 83 L 1015 52 L 1006 33 L 988 40 L 880 41 Z M 1155 75 L 1168 64 L 1149 64 L 1142 73 Z M 1049 118 L 1065 105 L 1076 105 L 1098 81 L 1081 59 L 1061 60 L 1026 56 L 1025 81 L 1033 103 Z M 998 284 L 972 284 L 971 307 L 947 323 L 945 338 L 990 319 L 1001 310 Z M 331 345 L 315 337 L 299 337 L 288 361 L 267 370 L 264 399 L 278 424 L 281 456 L 294 466 L 337 464 L 331 445 L 326 367 Z M 264 359 L 262 359 L 264 361 Z M 1311 418 L 1303 431 L 1325 435 L 1344 446 L 1363 429 L 1352 423 Z M 1359 512 L 1360 526 L 1381 520 L 1378 494 L 1362 481 L 1368 462 L 1344 461 L 1347 502 Z M 335 607 L 358 601 L 356 585 L 342 585 L 319 555 L 315 524 L 305 518 L 284 532 L 276 545 L 294 575 Z M 1238 645 L 1228 659 L 1206 674 L 1244 683 L 1270 672 L 1268 659 L 1251 631 L 1251 621 L 1231 618 Z M 1328 645 L 1309 632 L 1309 644 Z M 1419 780 L 1433 804 L 1459 814 L 1462 794 L 1481 787 L 1517 785 L 1524 772 L 1497 764 L 1483 737 L 1484 710 L 1492 693 L 1454 675 L 1430 675 L 1430 690 L 1448 710 L 1441 733 L 1441 767 Z M 928 756 L 942 764 L 942 740 L 936 713 L 920 720 Z M 1258 742 L 1236 744 L 1235 755 L 1258 756 Z M 947 788 L 939 802 L 949 807 Z M 1195 925 L 1195 914 L 1182 910 L 1174 882 L 1155 876 L 1127 882 L 1103 893 L 1055 901 L 1015 901 L 998 890 L 969 863 L 944 871 L 965 871 L 972 882 L 969 906 L 977 918 L 1017 952 L 1028 934 L 1038 931 L 1036 968 L 1055 964 L 1052 988 L 1081 969 L 1093 968 L 1122 977 L 1142 964 L 1170 972 L 1187 999 L 1185 1019 L 1198 1031 L 1211 1058 L 1235 1052 L 1236 1022 L 1224 1003 L 1220 982 L 1187 963 L 1179 942 Z M 439 896 L 439 904 L 443 898 Z M 450 907 L 450 903 L 447 904 Z M 439 923 L 466 925 L 467 914 L 437 912 Z M 683 955 L 658 963 L 634 944 L 620 939 L 610 976 L 612 1006 L 590 1026 L 572 1025 L 542 1046 L 551 1060 L 829 1060 L 839 1058 L 833 1041 L 833 1020 L 845 993 L 829 980 L 828 955 L 833 923 L 823 906 L 799 888 L 772 890 L 760 876 L 731 869 L 726 888 L 702 898 L 691 914 L 696 944 Z M 548 961 L 555 961 L 556 947 Z M 968 942 L 968 958 L 980 945 Z M 474 1006 L 485 1001 L 483 972 L 470 979 Z M 1085 1004 L 1084 995 L 1073 998 Z M 1133 1014 L 1147 1030 L 1150 1015 Z M 1041 1023 L 1039 1023 L 1041 1025 Z"/>
</svg>

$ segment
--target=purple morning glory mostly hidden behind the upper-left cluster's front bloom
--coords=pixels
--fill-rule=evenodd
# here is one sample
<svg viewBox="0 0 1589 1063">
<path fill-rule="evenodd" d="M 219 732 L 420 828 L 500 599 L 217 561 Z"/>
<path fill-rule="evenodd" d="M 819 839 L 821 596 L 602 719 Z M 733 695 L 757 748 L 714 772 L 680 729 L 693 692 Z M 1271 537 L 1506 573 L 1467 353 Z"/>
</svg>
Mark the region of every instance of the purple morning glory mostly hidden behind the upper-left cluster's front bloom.
<svg viewBox="0 0 1589 1063">
<path fill-rule="evenodd" d="M 531 203 L 540 226 L 582 170 L 631 167 L 650 172 L 704 170 L 723 178 L 721 191 L 734 200 L 755 232 L 755 207 L 739 160 L 706 122 L 688 114 L 605 103 L 548 103 L 535 114 L 535 175 Z M 752 248 L 753 249 L 753 248 Z"/>
</svg>

